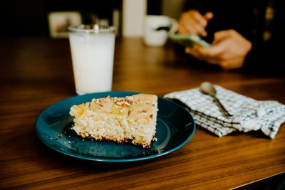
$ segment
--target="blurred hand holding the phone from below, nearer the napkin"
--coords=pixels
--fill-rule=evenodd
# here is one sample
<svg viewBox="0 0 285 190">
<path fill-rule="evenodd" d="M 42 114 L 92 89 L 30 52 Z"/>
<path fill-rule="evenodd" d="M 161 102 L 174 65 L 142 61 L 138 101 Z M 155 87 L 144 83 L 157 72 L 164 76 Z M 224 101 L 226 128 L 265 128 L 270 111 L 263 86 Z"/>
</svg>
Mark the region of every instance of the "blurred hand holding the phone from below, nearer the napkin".
<svg viewBox="0 0 285 190">
<path fill-rule="evenodd" d="M 185 52 L 207 63 L 219 65 L 224 69 L 241 68 L 244 58 L 252 49 L 252 43 L 234 30 L 214 33 L 210 48 L 195 45 L 185 48 Z"/>
</svg>

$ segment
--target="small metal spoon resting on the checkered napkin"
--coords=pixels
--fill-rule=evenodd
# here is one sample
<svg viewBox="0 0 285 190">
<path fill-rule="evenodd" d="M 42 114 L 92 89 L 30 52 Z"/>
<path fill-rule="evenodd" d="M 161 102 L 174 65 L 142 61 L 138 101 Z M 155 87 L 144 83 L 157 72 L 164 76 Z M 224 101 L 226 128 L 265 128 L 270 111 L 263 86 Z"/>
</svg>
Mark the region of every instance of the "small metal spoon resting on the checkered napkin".
<svg viewBox="0 0 285 190">
<path fill-rule="evenodd" d="M 206 95 L 210 95 L 213 97 L 214 102 L 216 102 L 217 106 L 219 106 L 219 110 L 222 111 L 222 114 L 225 117 L 231 117 L 232 115 L 229 114 L 229 112 L 227 112 L 227 110 L 224 108 L 224 106 L 222 105 L 221 102 L 219 102 L 219 99 L 217 99 L 216 97 L 216 90 L 214 89 L 214 85 L 212 85 L 209 82 L 204 82 L 200 85 L 200 90 L 202 93 L 206 94 Z"/>
</svg>

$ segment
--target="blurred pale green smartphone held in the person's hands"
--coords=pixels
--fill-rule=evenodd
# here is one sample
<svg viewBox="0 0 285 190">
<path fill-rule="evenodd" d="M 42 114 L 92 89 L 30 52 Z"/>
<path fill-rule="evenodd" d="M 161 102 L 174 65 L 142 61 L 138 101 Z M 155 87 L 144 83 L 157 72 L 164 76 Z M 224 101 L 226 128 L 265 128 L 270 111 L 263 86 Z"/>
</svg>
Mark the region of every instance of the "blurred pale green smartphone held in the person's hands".
<svg viewBox="0 0 285 190">
<path fill-rule="evenodd" d="M 207 41 L 204 41 L 202 38 L 200 38 L 197 35 L 192 34 L 172 34 L 170 35 L 170 39 L 174 41 L 175 43 L 179 43 L 182 46 L 192 47 L 194 43 L 198 44 L 199 46 L 203 46 L 206 48 L 211 47 L 210 43 L 207 43 Z"/>
</svg>

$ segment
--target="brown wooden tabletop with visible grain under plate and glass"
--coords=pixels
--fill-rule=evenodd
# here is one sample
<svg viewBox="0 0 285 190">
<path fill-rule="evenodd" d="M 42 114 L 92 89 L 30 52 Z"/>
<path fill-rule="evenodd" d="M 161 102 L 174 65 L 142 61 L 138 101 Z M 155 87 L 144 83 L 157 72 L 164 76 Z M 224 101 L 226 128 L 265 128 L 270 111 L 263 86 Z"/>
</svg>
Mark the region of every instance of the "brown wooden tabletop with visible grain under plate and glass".
<svg viewBox="0 0 285 190">
<path fill-rule="evenodd" d="M 225 137 L 197 127 L 185 146 L 144 162 L 108 164 L 65 156 L 36 136 L 49 105 L 76 95 L 68 40 L 2 38 L 0 189 L 233 189 L 285 172 L 285 126 Z M 146 47 L 118 38 L 113 90 L 155 93 L 197 88 L 204 80 L 257 100 L 285 104 L 285 78 L 202 68 L 172 44 Z"/>
</svg>

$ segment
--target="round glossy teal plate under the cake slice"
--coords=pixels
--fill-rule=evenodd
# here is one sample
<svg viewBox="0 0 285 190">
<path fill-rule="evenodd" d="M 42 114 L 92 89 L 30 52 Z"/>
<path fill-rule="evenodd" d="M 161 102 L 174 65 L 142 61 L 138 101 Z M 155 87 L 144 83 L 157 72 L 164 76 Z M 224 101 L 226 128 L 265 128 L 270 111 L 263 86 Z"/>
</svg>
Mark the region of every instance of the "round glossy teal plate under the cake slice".
<svg viewBox="0 0 285 190">
<path fill-rule="evenodd" d="M 195 132 L 195 121 L 184 107 L 175 102 L 158 97 L 157 141 L 149 149 L 133 144 L 117 144 L 108 141 L 83 139 L 68 130 L 73 125 L 69 115 L 72 105 L 90 102 L 93 98 L 125 97 L 137 93 L 111 91 L 70 97 L 56 102 L 43 110 L 36 120 L 36 134 L 48 147 L 71 157 L 98 162 L 135 162 L 153 159 L 179 149 Z M 62 137 L 58 137 L 60 134 Z"/>
</svg>

